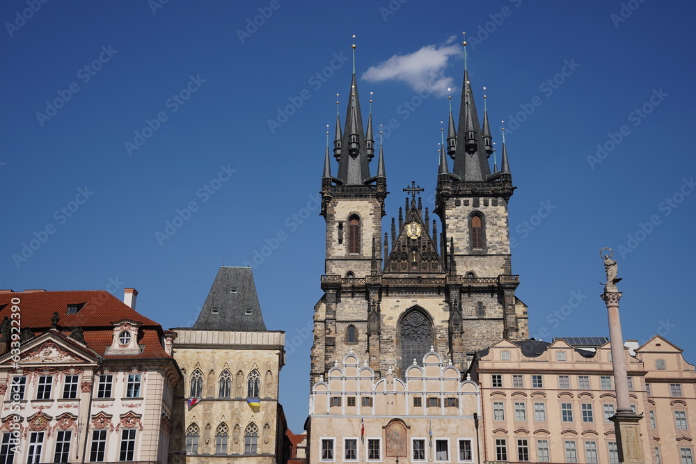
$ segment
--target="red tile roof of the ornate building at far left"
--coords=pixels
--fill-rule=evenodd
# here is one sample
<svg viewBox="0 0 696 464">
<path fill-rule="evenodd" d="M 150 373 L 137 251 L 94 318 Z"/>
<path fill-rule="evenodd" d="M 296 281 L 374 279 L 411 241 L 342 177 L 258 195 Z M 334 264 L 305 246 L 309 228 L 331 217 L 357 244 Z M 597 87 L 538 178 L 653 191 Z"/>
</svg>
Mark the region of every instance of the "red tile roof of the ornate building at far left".
<svg viewBox="0 0 696 464">
<path fill-rule="evenodd" d="M 161 344 L 162 327 L 131 307 L 122 303 L 105 290 L 93 291 L 15 291 L 0 293 L 0 320 L 12 314 L 13 298 L 19 298 L 21 326 L 31 328 L 35 335 L 52 326 L 51 318 L 58 312 L 58 328 L 63 335 L 70 335 L 73 327 L 84 329 L 87 346 L 104 356 L 113 339 L 112 322 L 130 319 L 142 324 L 138 344 L 143 351 L 137 355 L 108 355 L 106 359 L 171 358 Z M 68 314 L 68 305 L 80 307 L 77 314 Z"/>
</svg>

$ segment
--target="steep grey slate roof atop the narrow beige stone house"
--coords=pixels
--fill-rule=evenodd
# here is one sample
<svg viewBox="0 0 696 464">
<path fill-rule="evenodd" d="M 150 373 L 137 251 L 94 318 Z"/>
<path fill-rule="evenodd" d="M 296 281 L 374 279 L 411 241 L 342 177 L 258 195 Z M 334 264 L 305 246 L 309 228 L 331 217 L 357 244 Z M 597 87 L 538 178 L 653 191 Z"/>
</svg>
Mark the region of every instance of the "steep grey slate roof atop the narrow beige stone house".
<svg viewBox="0 0 696 464">
<path fill-rule="evenodd" d="M 266 330 L 251 268 L 220 268 L 193 328 Z"/>
</svg>

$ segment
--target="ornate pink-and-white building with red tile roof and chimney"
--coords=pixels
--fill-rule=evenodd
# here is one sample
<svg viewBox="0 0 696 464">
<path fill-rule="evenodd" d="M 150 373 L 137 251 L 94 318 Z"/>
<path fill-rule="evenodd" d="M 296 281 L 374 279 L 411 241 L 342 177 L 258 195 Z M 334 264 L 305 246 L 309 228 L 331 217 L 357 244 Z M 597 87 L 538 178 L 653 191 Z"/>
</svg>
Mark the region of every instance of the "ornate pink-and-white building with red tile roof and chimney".
<svg viewBox="0 0 696 464">
<path fill-rule="evenodd" d="M 164 463 L 174 333 L 108 291 L 0 291 L 0 462 Z"/>
</svg>

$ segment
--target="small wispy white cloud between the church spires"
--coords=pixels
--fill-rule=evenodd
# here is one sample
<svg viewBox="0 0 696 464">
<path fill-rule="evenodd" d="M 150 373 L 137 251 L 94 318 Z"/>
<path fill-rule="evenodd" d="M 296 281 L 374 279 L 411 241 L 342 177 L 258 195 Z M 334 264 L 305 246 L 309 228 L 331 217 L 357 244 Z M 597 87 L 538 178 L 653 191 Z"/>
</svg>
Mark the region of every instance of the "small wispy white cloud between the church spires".
<svg viewBox="0 0 696 464">
<path fill-rule="evenodd" d="M 461 56 L 459 45 L 436 47 L 426 45 L 407 55 L 394 55 L 387 61 L 372 66 L 365 71 L 363 79 L 370 82 L 402 81 L 413 90 L 425 88 L 436 95 L 448 95 L 448 88 L 454 88 L 454 79 L 445 76 L 444 70 L 452 56 Z"/>
</svg>

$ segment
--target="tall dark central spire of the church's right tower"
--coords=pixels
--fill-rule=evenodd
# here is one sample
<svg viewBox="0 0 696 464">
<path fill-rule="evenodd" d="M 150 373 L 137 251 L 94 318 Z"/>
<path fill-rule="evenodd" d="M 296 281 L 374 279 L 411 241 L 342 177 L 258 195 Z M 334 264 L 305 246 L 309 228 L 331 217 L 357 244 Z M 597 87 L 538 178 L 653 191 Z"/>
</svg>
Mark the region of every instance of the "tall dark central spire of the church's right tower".
<svg viewBox="0 0 696 464">
<path fill-rule="evenodd" d="M 468 182 L 486 180 L 491 173 L 491 167 L 482 140 L 469 72 L 466 69 L 466 40 L 464 40 L 464 81 L 461 84 L 457 134 L 459 134 L 459 143 L 454 152 L 454 174 Z"/>
</svg>

